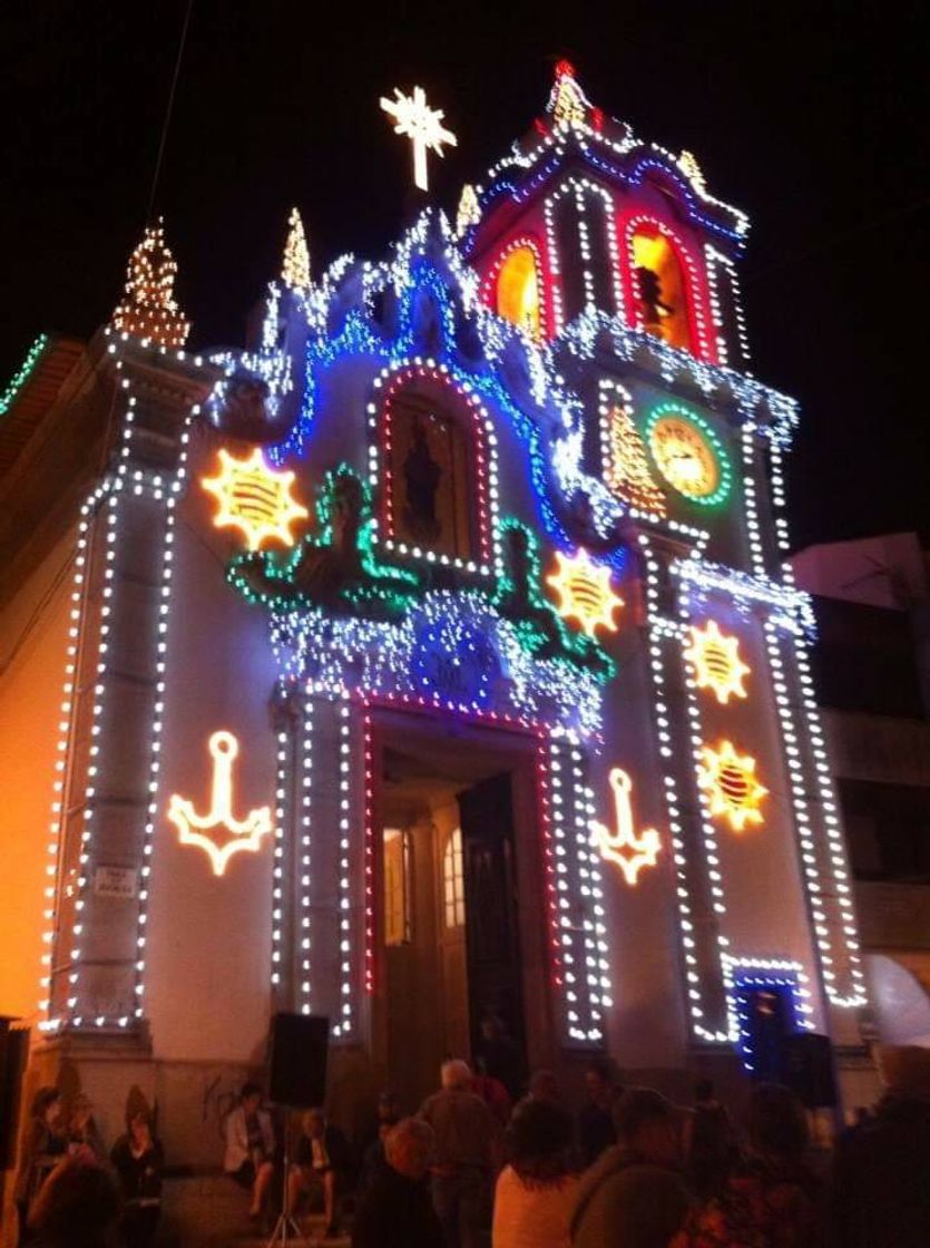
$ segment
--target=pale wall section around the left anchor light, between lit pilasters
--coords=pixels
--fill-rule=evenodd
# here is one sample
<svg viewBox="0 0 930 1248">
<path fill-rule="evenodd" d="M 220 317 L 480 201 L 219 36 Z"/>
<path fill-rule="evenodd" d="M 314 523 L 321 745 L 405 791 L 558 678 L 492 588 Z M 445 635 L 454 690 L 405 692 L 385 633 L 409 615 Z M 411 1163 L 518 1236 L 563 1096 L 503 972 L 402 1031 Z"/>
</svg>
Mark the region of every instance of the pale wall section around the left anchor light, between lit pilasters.
<svg viewBox="0 0 930 1248">
<path fill-rule="evenodd" d="M 146 1013 L 156 1057 L 247 1062 L 263 1053 L 269 1013 L 273 832 L 216 875 L 203 849 L 180 844 L 166 812 L 172 794 L 208 809 L 207 745 L 222 729 L 239 744 L 236 817 L 263 806 L 274 816 L 276 669 L 264 613 L 226 584 L 232 542 L 213 529 L 211 499 L 198 484 L 213 461 L 211 441 L 194 439 L 176 540 Z"/>
</svg>

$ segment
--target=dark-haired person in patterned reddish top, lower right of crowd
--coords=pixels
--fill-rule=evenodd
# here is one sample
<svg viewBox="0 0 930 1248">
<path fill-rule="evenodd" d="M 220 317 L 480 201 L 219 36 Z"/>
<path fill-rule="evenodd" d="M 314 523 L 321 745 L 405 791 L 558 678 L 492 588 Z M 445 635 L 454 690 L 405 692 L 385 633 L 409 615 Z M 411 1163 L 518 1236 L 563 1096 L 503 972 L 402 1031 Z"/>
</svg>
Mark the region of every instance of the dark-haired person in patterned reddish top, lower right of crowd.
<svg viewBox="0 0 930 1248">
<path fill-rule="evenodd" d="M 669 1248 L 813 1248 L 822 1242 L 822 1197 L 804 1159 L 810 1133 L 800 1101 L 778 1083 L 757 1085 L 745 1132 L 745 1157 Z"/>
</svg>

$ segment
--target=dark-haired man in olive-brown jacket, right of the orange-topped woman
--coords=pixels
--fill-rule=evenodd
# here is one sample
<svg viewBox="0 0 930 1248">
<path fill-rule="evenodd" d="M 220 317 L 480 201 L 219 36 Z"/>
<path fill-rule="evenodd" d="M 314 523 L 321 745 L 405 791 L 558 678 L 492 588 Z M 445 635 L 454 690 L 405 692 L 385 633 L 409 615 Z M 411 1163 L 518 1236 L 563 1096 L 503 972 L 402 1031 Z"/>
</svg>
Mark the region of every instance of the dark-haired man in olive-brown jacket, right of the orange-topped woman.
<svg viewBox="0 0 930 1248">
<path fill-rule="evenodd" d="M 691 1203 L 678 1114 L 659 1092 L 630 1088 L 613 1119 L 618 1143 L 581 1179 L 572 1248 L 667 1248 Z"/>
</svg>

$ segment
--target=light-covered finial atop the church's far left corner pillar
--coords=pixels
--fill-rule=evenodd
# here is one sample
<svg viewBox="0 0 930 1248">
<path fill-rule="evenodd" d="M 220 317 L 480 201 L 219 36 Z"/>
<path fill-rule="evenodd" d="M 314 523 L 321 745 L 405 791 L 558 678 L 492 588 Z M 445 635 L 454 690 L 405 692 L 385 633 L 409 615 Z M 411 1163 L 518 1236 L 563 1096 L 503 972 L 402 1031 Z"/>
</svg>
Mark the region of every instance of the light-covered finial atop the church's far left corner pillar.
<svg viewBox="0 0 930 1248">
<path fill-rule="evenodd" d="M 177 265 L 158 217 L 155 225 L 146 226 L 142 242 L 130 257 L 126 290 L 112 317 L 113 328 L 162 347 L 183 347 L 191 322 L 175 301 L 176 276 Z"/>
</svg>

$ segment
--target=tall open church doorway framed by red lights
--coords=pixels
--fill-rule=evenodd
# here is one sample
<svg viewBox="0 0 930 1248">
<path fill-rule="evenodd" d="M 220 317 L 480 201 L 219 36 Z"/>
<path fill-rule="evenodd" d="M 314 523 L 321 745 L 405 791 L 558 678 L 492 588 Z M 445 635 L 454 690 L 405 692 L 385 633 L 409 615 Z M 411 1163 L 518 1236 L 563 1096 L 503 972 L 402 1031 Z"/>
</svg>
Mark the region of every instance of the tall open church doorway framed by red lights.
<svg viewBox="0 0 930 1248">
<path fill-rule="evenodd" d="M 519 1094 L 550 1037 L 536 743 L 418 720 L 380 723 L 373 750 L 374 1041 L 408 1112 L 448 1057 Z"/>
</svg>

